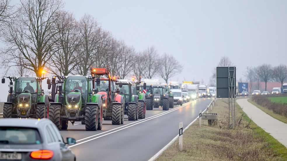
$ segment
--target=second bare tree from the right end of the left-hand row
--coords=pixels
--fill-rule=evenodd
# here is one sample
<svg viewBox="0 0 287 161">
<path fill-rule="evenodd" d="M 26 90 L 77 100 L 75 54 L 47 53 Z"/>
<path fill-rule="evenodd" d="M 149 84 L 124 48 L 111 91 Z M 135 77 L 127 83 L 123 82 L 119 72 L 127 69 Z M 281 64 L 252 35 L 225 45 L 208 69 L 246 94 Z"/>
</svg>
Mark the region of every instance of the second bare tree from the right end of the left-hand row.
<svg viewBox="0 0 287 161">
<path fill-rule="evenodd" d="M 147 75 L 146 77 L 148 79 L 152 79 L 154 74 L 157 72 L 157 68 L 159 64 L 157 63 L 157 60 L 159 58 L 159 54 L 157 54 L 156 49 L 152 47 L 148 47 L 145 51 L 144 54 L 146 55 L 145 61 L 147 63 Z"/>
</svg>

